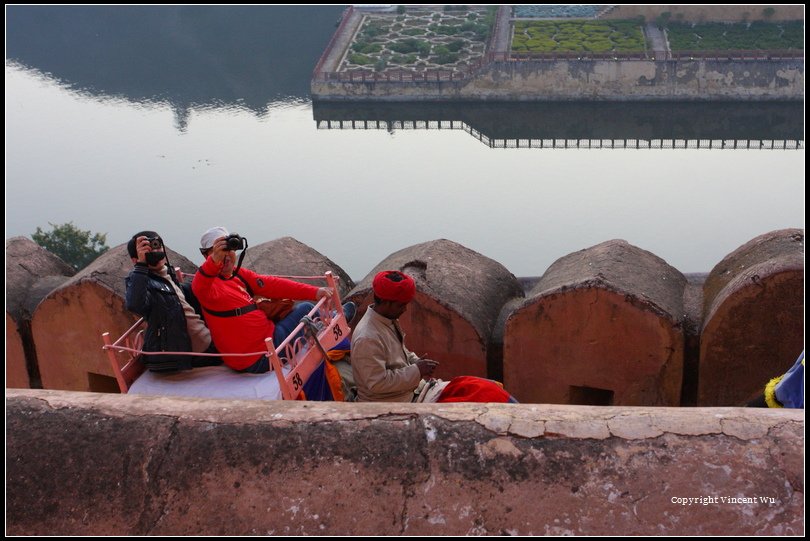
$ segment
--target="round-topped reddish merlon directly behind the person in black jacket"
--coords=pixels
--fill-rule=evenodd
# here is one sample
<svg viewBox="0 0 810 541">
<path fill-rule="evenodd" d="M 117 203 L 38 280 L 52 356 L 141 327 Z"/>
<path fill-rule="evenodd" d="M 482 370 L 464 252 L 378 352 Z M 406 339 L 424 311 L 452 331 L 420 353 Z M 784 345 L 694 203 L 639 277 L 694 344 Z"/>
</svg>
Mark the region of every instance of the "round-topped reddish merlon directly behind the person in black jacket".
<svg viewBox="0 0 810 541">
<path fill-rule="evenodd" d="M 191 261 L 167 250 L 172 266 L 195 272 Z M 126 245 L 110 248 L 39 304 L 31 331 L 45 389 L 117 391 L 101 335 L 118 338 L 138 319 L 124 308 L 130 270 Z"/>
</svg>

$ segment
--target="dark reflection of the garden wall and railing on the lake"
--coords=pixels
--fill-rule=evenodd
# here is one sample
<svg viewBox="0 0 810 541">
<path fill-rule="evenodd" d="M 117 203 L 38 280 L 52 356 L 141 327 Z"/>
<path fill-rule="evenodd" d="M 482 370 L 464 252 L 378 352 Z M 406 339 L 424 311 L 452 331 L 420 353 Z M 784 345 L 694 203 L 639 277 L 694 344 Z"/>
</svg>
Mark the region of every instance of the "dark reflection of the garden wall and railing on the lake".
<svg viewBox="0 0 810 541">
<path fill-rule="evenodd" d="M 461 129 L 491 147 L 800 148 L 803 104 L 313 103 L 320 129 Z"/>
</svg>

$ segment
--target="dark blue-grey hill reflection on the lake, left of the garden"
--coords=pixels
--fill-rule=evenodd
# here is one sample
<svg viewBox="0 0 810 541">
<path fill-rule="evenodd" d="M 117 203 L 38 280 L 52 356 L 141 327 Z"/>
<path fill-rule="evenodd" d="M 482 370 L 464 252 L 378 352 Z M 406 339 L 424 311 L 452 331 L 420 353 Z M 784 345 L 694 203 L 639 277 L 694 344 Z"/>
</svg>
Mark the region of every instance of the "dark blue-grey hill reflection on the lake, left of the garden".
<svg viewBox="0 0 810 541">
<path fill-rule="evenodd" d="M 9 6 L 6 58 L 87 95 L 262 116 L 308 99 L 341 6 Z"/>
</svg>

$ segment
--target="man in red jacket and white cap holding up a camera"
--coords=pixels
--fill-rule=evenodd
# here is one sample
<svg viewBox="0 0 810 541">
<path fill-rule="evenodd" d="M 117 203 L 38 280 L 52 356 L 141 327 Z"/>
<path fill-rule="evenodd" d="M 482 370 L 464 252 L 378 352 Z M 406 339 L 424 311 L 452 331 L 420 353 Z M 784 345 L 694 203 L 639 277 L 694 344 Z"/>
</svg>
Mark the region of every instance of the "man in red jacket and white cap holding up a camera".
<svg viewBox="0 0 810 541">
<path fill-rule="evenodd" d="M 272 336 L 273 344 L 284 341 L 314 306 L 299 303 L 284 319 L 274 324 L 262 310 L 258 310 L 253 295 L 270 299 L 296 299 L 314 301 L 331 297 L 332 290 L 315 287 L 275 276 L 257 274 L 241 268 L 234 274 L 236 252 L 229 249 L 228 230 L 214 227 L 205 232 L 200 251 L 205 263 L 194 276 L 191 288 L 200 301 L 211 337 L 219 351 L 225 353 L 251 353 L 265 351 L 265 338 Z M 246 286 L 249 286 L 246 287 Z M 348 304 L 348 303 L 347 303 Z M 348 311 L 348 310 L 347 310 Z M 348 318 L 349 314 L 347 314 Z M 270 370 L 266 355 L 242 357 L 223 355 L 225 364 L 240 372 L 262 373 Z"/>
</svg>

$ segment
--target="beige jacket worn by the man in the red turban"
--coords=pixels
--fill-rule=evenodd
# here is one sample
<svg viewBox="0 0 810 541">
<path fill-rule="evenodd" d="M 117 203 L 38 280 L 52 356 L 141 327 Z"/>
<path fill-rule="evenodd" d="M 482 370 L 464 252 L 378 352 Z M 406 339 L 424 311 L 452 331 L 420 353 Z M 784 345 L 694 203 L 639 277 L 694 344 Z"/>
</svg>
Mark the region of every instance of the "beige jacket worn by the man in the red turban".
<svg viewBox="0 0 810 541">
<path fill-rule="evenodd" d="M 410 402 L 422 380 L 419 357 L 405 348 L 405 334 L 369 306 L 352 332 L 352 374 L 358 402 Z"/>
</svg>

